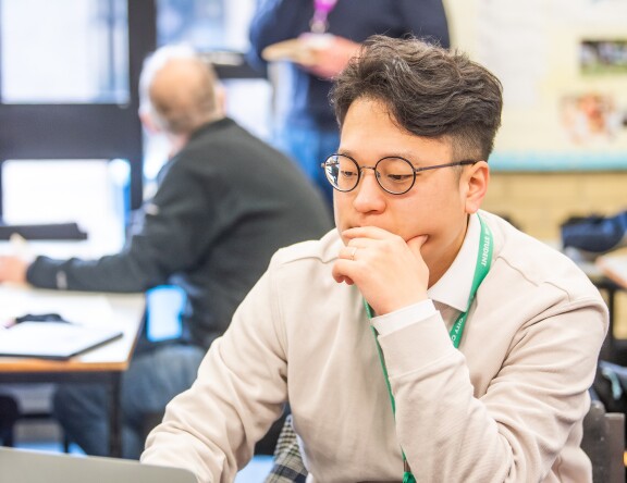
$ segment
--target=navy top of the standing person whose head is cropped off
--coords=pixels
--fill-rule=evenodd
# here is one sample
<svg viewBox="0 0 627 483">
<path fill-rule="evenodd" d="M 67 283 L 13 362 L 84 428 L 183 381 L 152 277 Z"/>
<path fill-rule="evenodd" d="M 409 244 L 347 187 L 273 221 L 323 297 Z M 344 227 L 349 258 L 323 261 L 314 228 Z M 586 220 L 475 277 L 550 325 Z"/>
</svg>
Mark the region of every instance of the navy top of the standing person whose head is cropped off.
<svg viewBox="0 0 627 483">
<path fill-rule="evenodd" d="M 250 24 L 248 61 L 265 67 L 261 51 L 275 42 L 309 32 L 312 0 L 258 0 Z M 329 14 L 329 33 L 356 42 L 374 34 L 402 38 L 414 35 L 448 47 L 448 24 L 441 0 L 339 0 Z M 288 64 L 290 92 L 285 123 L 311 128 L 337 128 L 329 106 L 331 82 Z"/>
</svg>

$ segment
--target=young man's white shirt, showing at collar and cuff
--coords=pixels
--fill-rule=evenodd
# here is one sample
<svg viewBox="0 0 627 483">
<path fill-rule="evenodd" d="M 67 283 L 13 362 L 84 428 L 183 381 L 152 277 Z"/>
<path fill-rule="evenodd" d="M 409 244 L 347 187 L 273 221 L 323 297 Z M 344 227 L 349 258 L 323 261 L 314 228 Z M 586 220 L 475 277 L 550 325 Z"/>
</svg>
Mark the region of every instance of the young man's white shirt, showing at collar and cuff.
<svg viewBox="0 0 627 483">
<path fill-rule="evenodd" d="M 455 309 L 457 312 L 464 312 L 468 309 L 467 305 L 472 286 L 480 231 L 479 216 L 474 213 L 469 218 L 468 230 L 457 257 L 455 257 L 448 270 L 444 272 L 444 275 L 427 290 L 429 298 L 394 312 L 372 318 L 372 325 L 380 335 L 390 334 L 433 315 L 435 313 L 433 302 L 438 302 L 444 308 Z M 448 317 L 443 314 L 443 319 L 447 320 Z"/>
</svg>

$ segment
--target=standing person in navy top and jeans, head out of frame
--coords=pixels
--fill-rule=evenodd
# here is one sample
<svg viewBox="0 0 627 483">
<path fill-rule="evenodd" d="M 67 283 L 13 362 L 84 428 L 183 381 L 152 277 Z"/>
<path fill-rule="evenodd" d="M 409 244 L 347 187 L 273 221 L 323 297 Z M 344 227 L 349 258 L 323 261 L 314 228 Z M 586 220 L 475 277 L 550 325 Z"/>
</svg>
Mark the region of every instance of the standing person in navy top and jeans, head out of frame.
<svg viewBox="0 0 627 483">
<path fill-rule="evenodd" d="M 317 42 L 311 33 L 331 35 Z M 263 49 L 273 44 L 304 36 L 317 42 L 305 63 L 292 62 L 280 71 L 285 91 L 275 92 L 275 144 L 298 162 L 330 205 L 332 188 L 319 164 L 340 143 L 328 99 L 331 79 L 373 34 L 450 44 L 441 0 L 258 0 L 250 24 L 249 61 L 259 67 L 266 65 Z"/>
</svg>

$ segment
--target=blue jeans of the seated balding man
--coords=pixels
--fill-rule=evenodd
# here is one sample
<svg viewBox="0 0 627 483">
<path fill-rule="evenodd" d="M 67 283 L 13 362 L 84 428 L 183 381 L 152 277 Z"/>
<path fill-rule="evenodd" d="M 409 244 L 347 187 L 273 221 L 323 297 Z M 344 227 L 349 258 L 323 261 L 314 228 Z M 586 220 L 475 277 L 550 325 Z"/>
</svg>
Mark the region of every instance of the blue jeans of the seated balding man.
<svg viewBox="0 0 627 483">
<path fill-rule="evenodd" d="M 164 345 L 137 354 L 122 373 L 122 457 L 138 459 L 146 422 L 196 380 L 206 351 L 187 345 Z M 70 439 L 88 455 L 109 454 L 109 399 L 102 384 L 61 384 L 53 413 Z"/>
</svg>

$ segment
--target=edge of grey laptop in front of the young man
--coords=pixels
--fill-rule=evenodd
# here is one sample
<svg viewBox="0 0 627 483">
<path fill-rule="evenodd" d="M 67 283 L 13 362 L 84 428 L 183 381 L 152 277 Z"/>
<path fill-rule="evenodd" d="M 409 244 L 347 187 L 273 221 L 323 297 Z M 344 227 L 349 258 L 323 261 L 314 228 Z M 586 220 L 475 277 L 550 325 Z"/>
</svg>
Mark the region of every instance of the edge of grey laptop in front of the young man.
<svg viewBox="0 0 627 483">
<path fill-rule="evenodd" d="M 197 483 L 190 471 L 136 460 L 0 447 L 0 483 Z"/>
</svg>

